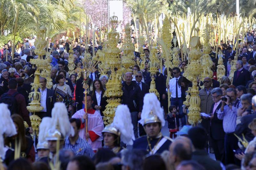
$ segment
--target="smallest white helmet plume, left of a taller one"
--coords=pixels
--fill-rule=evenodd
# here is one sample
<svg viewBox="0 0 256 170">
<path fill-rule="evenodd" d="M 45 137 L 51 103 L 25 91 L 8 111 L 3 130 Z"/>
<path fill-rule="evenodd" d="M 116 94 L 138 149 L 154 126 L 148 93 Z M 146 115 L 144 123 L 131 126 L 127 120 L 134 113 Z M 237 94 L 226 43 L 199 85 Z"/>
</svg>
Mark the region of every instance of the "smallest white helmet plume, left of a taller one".
<svg viewBox="0 0 256 170">
<path fill-rule="evenodd" d="M 51 128 L 51 121 L 52 118 L 44 117 L 39 126 L 39 133 L 38 133 L 38 141 L 43 142 L 45 141 L 45 137 L 47 135 L 48 130 Z"/>
</svg>

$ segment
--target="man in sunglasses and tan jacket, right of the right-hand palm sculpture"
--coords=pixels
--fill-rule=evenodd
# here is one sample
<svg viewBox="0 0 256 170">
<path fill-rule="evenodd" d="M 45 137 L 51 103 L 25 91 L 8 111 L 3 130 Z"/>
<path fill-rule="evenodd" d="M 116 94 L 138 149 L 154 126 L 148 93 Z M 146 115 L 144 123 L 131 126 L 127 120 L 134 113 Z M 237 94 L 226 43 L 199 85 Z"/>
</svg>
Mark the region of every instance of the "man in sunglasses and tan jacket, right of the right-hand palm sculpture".
<svg viewBox="0 0 256 170">
<path fill-rule="evenodd" d="M 200 109 L 202 113 L 211 114 L 210 111 L 213 104 L 212 96 L 211 96 L 212 79 L 210 77 L 205 77 L 203 83 L 204 83 L 204 89 L 199 90 L 199 97 L 201 99 Z M 208 151 L 208 146 L 209 146 L 210 152 L 212 153 L 213 149 L 212 149 L 212 143 L 211 143 L 211 137 L 210 137 L 210 123 L 211 123 L 211 119 L 202 117 L 202 122 L 200 125 L 203 128 L 205 128 L 205 130 L 207 131 L 208 140 L 207 140 L 206 148 Z M 209 141 L 209 145 L 208 145 L 208 141 Z"/>
</svg>

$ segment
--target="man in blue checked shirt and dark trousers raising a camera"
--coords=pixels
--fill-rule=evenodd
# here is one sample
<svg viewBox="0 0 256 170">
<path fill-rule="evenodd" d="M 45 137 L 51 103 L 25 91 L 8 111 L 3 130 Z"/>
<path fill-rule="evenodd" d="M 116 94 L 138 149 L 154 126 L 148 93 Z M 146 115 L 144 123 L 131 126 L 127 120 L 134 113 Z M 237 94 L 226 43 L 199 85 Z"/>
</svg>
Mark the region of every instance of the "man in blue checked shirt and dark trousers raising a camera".
<svg viewBox="0 0 256 170">
<path fill-rule="evenodd" d="M 233 150 L 238 149 L 238 140 L 234 132 L 236 129 L 237 111 L 242 107 L 242 103 L 237 98 L 236 89 L 228 88 L 226 94 L 226 96 L 221 97 L 221 107 L 218 111 L 218 119 L 223 120 L 223 129 L 225 132 L 225 162 L 226 165 L 239 164 L 239 160 L 235 158 Z"/>
</svg>

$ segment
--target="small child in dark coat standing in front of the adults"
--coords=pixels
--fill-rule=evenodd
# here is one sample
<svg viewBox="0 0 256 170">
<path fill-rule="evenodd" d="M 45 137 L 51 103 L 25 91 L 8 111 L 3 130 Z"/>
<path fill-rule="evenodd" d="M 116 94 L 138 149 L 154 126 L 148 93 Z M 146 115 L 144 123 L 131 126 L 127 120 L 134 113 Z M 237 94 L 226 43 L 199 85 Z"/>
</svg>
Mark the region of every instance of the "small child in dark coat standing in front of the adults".
<svg viewBox="0 0 256 170">
<path fill-rule="evenodd" d="M 171 105 L 169 107 L 169 113 L 167 115 L 170 138 L 172 138 L 172 135 L 174 138 L 177 137 L 175 133 L 179 131 L 179 124 L 177 124 L 177 122 L 179 121 L 178 116 L 179 116 L 179 112 L 177 112 L 176 106 Z"/>
</svg>

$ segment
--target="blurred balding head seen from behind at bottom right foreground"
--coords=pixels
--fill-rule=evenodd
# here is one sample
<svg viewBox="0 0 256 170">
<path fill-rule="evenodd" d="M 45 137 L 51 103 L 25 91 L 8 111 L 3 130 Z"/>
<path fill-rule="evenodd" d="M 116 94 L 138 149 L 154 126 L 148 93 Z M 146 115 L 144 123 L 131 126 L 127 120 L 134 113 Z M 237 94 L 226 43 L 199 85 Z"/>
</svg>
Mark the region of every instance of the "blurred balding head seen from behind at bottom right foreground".
<svg viewBox="0 0 256 170">
<path fill-rule="evenodd" d="M 181 161 L 191 159 L 193 145 L 188 137 L 179 136 L 172 142 L 169 151 L 170 165 L 174 166 L 173 169 L 176 169 Z"/>
</svg>

